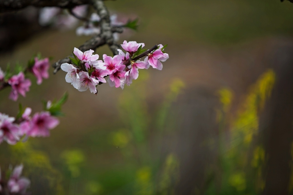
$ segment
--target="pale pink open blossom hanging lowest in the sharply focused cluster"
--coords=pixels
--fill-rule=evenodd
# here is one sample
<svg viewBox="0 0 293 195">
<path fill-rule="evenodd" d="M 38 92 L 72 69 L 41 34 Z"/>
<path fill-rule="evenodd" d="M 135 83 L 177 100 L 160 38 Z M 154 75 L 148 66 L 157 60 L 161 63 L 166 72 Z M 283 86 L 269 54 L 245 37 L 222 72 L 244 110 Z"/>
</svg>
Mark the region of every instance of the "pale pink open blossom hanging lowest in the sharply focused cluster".
<svg viewBox="0 0 293 195">
<path fill-rule="evenodd" d="M 99 83 L 98 80 L 94 79 L 93 77 L 89 77 L 88 72 L 80 72 L 80 88 L 78 89 L 80 92 L 84 92 L 86 90 L 90 90 L 91 93 L 97 93 L 97 84 Z"/>
</svg>

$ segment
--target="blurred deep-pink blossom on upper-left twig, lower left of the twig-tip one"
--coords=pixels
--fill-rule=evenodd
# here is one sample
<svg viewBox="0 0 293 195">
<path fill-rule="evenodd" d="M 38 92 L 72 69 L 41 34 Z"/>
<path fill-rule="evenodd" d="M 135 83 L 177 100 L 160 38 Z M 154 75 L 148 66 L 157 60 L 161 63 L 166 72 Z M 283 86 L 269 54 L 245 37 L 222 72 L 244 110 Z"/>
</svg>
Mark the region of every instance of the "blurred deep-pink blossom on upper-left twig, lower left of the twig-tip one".
<svg viewBox="0 0 293 195">
<path fill-rule="evenodd" d="M 18 75 L 13 75 L 9 80 L 8 84 L 11 85 L 11 93 L 9 98 L 16 101 L 18 94 L 21 94 L 25 97 L 25 92 L 28 92 L 30 89 L 31 82 L 29 79 L 24 78 L 23 72 L 18 73 Z"/>
</svg>

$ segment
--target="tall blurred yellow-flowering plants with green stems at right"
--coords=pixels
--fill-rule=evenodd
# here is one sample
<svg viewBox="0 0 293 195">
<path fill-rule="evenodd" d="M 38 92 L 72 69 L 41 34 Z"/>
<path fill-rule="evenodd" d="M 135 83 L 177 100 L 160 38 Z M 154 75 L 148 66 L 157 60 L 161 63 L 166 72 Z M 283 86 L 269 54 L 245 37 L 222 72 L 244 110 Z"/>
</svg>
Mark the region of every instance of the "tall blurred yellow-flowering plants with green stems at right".
<svg viewBox="0 0 293 195">
<path fill-rule="evenodd" d="M 259 113 L 270 97 L 275 83 L 275 73 L 269 69 L 251 85 L 236 118 L 229 115 L 233 101 L 231 89 L 220 89 L 222 108 L 217 111 L 219 122 L 218 161 L 209 172 L 205 194 L 259 194 L 265 187 L 263 146 L 253 143 L 258 135 Z M 229 137 L 224 132 L 230 129 Z M 229 140 L 227 142 L 227 140 Z M 216 168 L 215 168 L 216 167 Z"/>
</svg>

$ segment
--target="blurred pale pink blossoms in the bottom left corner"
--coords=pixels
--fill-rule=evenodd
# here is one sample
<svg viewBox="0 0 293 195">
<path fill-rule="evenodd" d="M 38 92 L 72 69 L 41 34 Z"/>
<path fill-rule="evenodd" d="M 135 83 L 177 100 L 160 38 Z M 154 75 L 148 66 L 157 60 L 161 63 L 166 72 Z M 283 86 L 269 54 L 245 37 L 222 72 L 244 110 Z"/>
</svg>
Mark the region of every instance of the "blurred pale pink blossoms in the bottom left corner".
<svg viewBox="0 0 293 195">
<path fill-rule="evenodd" d="M 1 178 L 1 169 L 0 169 L 0 194 L 1 192 L 11 193 L 11 194 L 26 194 L 26 189 L 30 186 L 30 180 L 26 177 L 21 177 L 21 173 L 23 170 L 23 165 L 16 166 L 8 180 L 5 182 L 4 179 Z"/>
</svg>

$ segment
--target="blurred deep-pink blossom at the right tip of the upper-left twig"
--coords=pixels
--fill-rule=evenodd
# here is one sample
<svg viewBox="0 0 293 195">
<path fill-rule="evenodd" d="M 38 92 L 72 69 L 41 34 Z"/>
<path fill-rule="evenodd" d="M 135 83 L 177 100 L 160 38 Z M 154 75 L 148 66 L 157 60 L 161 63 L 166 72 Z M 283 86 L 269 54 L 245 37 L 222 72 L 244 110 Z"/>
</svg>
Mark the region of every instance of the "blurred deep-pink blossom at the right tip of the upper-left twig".
<svg viewBox="0 0 293 195">
<path fill-rule="evenodd" d="M 39 60 L 37 57 L 35 58 L 35 65 L 33 66 L 32 71 L 35 77 L 37 77 L 37 84 L 42 83 L 42 78 L 49 78 L 49 67 L 49 58 L 44 58 L 42 60 Z"/>
</svg>

